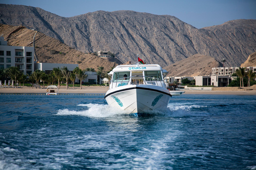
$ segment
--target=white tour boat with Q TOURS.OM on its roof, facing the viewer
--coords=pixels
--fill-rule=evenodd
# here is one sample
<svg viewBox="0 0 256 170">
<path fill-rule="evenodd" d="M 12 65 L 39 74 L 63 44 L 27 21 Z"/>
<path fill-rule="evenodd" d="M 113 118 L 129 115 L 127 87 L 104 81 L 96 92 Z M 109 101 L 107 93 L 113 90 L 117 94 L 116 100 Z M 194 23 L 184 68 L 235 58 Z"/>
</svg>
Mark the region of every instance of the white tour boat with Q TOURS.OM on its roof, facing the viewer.
<svg viewBox="0 0 256 170">
<path fill-rule="evenodd" d="M 157 64 L 119 65 L 109 73 L 111 81 L 105 99 L 108 105 L 129 114 L 166 108 L 172 95 L 163 74 L 167 71 Z"/>
</svg>

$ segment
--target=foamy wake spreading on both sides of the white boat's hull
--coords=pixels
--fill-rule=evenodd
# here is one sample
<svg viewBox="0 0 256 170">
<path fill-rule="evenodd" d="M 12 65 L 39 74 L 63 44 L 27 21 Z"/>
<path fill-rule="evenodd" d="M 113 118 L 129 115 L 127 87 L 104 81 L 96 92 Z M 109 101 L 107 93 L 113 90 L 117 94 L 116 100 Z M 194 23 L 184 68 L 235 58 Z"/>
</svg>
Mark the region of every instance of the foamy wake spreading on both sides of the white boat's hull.
<svg viewBox="0 0 256 170">
<path fill-rule="evenodd" d="M 78 115 L 86 117 L 127 117 L 127 116 L 154 116 L 154 117 L 187 117 L 187 116 L 206 116 L 203 112 L 191 111 L 191 109 L 202 109 L 204 106 L 198 105 L 173 105 L 169 104 L 167 108 L 159 108 L 154 111 L 148 111 L 143 114 L 129 114 L 129 111 L 123 111 L 115 107 L 103 104 L 79 104 L 79 111 L 69 109 L 60 109 L 57 115 Z"/>
</svg>

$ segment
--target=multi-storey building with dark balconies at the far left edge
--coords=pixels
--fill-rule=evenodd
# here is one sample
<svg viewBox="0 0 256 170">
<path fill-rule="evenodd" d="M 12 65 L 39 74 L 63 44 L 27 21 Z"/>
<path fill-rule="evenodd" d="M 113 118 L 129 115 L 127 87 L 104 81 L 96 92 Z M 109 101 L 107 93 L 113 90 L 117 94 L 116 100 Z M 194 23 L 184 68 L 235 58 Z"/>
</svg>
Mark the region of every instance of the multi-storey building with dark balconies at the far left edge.
<svg viewBox="0 0 256 170">
<path fill-rule="evenodd" d="M 0 37 L 0 69 L 18 67 L 23 74 L 34 72 L 34 47 L 8 46 Z"/>
</svg>

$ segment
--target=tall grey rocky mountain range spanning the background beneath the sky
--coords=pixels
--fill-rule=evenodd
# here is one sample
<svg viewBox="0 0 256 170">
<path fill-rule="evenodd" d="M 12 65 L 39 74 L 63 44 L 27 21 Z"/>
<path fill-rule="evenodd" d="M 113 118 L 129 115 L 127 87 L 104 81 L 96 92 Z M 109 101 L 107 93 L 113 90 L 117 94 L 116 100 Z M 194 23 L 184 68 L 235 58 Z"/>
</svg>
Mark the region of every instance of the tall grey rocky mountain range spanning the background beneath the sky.
<svg viewBox="0 0 256 170">
<path fill-rule="evenodd" d="M 256 51 L 256 20 L 197 29 L 170 15 L 96 11 L 64 18 L 38 7 L 1 4 L 0 23 L 38 30 L 81 52 L 110 51 L 123 63 L 139 54 L 147 63 L 168 66 L 202 54 L 239 66 Z"/>
</svg>

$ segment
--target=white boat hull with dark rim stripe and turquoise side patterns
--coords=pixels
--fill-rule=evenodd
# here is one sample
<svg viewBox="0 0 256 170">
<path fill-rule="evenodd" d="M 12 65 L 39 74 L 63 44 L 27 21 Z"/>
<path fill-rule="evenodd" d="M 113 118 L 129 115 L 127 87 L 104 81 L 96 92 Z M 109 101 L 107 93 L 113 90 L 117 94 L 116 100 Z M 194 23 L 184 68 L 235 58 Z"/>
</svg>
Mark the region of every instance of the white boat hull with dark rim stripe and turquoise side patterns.
<svg viewBox="0 0 256 170">
<path fill-rule="evenodd" d="M 131 85 L 107 91 L 105 99 L 109 106 L 130 113 L 147 113 L 167 107 L 170 100 L 169 90 L 157 86 Z"/>
</svg>

